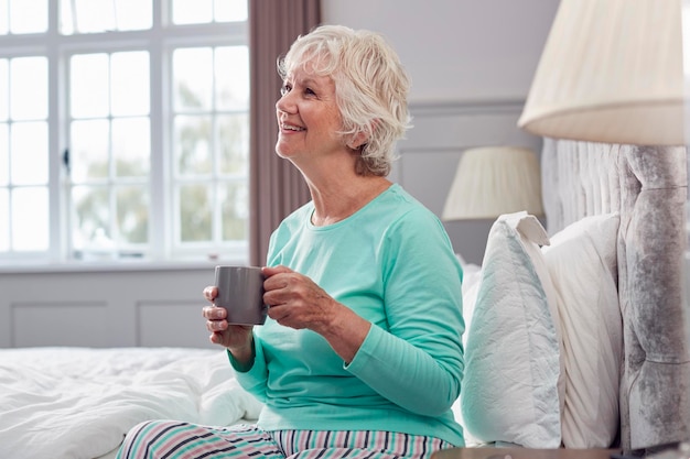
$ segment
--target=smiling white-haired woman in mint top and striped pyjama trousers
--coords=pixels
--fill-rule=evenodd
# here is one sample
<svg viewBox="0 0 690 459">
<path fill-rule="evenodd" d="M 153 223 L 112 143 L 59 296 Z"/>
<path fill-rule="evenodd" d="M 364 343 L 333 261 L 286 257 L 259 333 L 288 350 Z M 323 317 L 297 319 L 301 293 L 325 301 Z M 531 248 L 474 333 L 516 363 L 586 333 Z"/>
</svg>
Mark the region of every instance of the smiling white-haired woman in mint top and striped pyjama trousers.
<svg viewBox="0 0 690 459">
<path fill-rule="evenodd" d="M 273 232 L 267 323 L 211 340 L 260 401 L 257 425 L 137 426 L 126 457 L 425 458 L 464 444 L 462 271 L 439 219 L 389 182 L 409 79 L 378 34 L 324 25 L 282 61 L 276 152 L 312 200 Z M 216 287 L 204 296 L 213 302 Z"/>
</svg>

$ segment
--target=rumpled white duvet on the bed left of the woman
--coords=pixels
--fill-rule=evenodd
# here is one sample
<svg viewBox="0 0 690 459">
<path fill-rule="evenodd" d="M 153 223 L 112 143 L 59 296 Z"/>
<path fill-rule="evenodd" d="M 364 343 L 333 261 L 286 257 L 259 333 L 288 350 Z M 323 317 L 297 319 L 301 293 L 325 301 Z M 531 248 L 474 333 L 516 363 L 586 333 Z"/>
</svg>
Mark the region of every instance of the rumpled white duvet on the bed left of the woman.
<svg viewBox="0 0 690 459">
<path fill-rule="evenodd" d="M 97 458 L 145 419 L 226 426 L 259 409 L 222 350 L 0 350 L 0 458 Z"/>
</svg>

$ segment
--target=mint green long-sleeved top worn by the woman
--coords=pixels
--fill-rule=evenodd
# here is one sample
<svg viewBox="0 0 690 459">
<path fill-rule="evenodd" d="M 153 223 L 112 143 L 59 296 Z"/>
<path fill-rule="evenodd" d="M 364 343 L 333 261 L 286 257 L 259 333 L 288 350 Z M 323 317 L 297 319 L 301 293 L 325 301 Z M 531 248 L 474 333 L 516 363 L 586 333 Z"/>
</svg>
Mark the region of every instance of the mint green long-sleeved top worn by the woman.
<svg viewBox="0 0 690 459">
<path fill-rule="evenodd" d="M 254 364 L 235 368 L 265 403 L 259 427 L 390 430 L 463 446 L 451 411 L 464 369 L 462 269 L 441 221 L 397 184 L 334 225 L 313 226 L 313 211 L 309 203 L 283 220 L 268 265 L 311 277 L 371 327 L 352 362 L 314 331 L 270 318 L 255 327 Z"/>
</svg>

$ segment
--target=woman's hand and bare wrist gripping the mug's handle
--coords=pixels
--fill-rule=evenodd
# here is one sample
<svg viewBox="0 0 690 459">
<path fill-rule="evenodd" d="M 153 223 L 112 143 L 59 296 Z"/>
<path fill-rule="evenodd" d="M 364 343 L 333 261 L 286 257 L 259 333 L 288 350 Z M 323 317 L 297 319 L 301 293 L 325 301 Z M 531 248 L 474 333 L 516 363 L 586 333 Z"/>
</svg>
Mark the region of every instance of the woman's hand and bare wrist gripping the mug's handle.
<svg viewBox="0 0 690 459">
<path fill-rule="evenodd" d="M 285 266 L 262 267 L 268 316 L 295 329 L 323 336 L 346 362 L 357 353 L 371 324 L 336 302 L 311 278 Z"/>
</svg>

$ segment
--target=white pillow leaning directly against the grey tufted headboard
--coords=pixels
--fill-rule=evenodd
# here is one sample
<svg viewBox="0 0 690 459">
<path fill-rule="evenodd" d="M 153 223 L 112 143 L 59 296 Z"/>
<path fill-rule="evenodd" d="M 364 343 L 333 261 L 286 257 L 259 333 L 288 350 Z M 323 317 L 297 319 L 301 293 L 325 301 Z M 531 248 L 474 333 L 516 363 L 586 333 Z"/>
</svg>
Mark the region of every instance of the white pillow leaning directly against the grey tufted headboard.
<svg viewBox="0 0 690 459">
<path fill-rule="evenodd" d="M 606 448 L 618 429 L 623 321 L 616 287 L 618 214 L 586 217 L 542 248 L 564 340 L 563 446 Z"/>
</svg>

